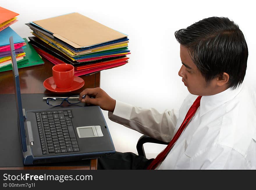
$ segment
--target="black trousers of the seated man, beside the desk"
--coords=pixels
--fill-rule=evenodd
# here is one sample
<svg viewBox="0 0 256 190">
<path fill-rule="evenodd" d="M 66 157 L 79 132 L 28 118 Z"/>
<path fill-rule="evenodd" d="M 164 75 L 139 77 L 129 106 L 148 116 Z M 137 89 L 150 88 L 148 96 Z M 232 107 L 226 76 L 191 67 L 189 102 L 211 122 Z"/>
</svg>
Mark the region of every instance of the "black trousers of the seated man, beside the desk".
<svg viewBox="0 0 256 190">
<path fill-rule="evenodd" d="M 116 152 L 104 158 L 98 158 L 97 169 L 147 169 L 154 160 L 138 156 L 132 152 Z"/>
</svg>

